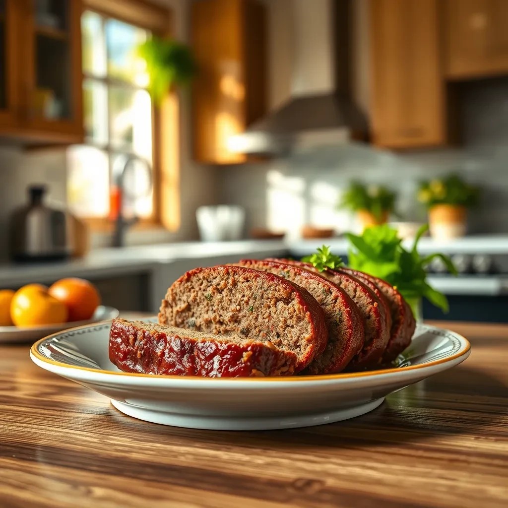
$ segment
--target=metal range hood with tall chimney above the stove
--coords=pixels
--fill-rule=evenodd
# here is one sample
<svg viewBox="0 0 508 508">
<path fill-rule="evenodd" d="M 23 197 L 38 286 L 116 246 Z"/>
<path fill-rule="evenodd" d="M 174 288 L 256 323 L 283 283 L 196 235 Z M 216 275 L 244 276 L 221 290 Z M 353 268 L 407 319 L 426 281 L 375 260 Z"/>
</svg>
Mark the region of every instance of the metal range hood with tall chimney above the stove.
<svg viewBox="0 0 508 508">
<path fill-rule="evenodd" d="M 277 154 L 302 143 L 344 143 L 367 134 L 351 100 L 351 0 L 292 0 L 291 98 L 228 141 L 235 152 Z"/>
</svg>

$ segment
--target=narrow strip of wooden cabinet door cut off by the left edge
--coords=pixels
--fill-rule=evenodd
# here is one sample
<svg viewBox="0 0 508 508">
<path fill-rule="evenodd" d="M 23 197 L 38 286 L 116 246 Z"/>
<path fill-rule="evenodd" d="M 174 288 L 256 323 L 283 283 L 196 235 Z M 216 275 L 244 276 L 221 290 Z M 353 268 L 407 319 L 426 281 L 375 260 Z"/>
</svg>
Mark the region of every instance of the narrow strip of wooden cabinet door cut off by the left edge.
<svg viewBox="0 0 508 508">
<path fill-rule="evenodd" d="M 18 114 L 16 29 L 19 4 L 16 0 L 0 0 L 0 132 L 16 127 Z"/>
</svg>

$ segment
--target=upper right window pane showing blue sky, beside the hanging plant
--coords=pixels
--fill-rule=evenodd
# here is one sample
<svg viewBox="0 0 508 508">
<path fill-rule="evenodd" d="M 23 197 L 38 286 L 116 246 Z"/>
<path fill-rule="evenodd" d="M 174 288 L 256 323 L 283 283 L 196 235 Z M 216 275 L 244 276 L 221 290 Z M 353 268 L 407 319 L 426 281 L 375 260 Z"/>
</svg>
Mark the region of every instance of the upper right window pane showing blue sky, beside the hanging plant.
<svg viewBox="0 0 508 508">
<path fill-rule="evenodd" d="M 106 44 L 108 48 L 108 74 L 139 86 L 146 86 L 148 79 L 145 63 L 136 56 L 136 48 L 146 41 L 148 32 L 116 19 L 106 20 Z"/>
</svg>

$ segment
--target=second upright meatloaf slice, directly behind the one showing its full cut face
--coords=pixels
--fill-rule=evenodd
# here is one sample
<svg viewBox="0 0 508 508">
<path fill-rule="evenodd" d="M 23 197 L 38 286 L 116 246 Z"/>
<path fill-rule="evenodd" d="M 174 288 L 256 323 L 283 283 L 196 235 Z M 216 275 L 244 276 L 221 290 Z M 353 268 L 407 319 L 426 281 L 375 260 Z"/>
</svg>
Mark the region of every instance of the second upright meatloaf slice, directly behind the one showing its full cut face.
<svg viewBox="0 0 508 508">
<path fill-rule="evenodd" d="M 239 265 L 274 273 L 305 288 L 319 302 L 328 326 L 328 345 L 305 369 L 308 374 L 340 372 L 361 351 L 363 323 L 356 305 L 333 282 L 304 268 L 277 261 L 242 260 Z"/>
</svg>

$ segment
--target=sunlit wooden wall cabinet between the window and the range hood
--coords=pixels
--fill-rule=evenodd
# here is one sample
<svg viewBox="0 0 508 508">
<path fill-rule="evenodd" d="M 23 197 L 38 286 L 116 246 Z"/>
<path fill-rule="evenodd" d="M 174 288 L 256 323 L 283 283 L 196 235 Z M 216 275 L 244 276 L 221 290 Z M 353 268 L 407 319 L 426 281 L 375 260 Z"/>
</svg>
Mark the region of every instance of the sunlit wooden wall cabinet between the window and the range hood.
<svg viewBox="0 0 508 508">
<path fill-rule="evenodd" d="M 267 108 L 266 13 L 257 0 L 197 0 L 191 37 L 199 73 L 193 86 L 194 156 L 238 164 L 228 140 Z"/>
</svg>

